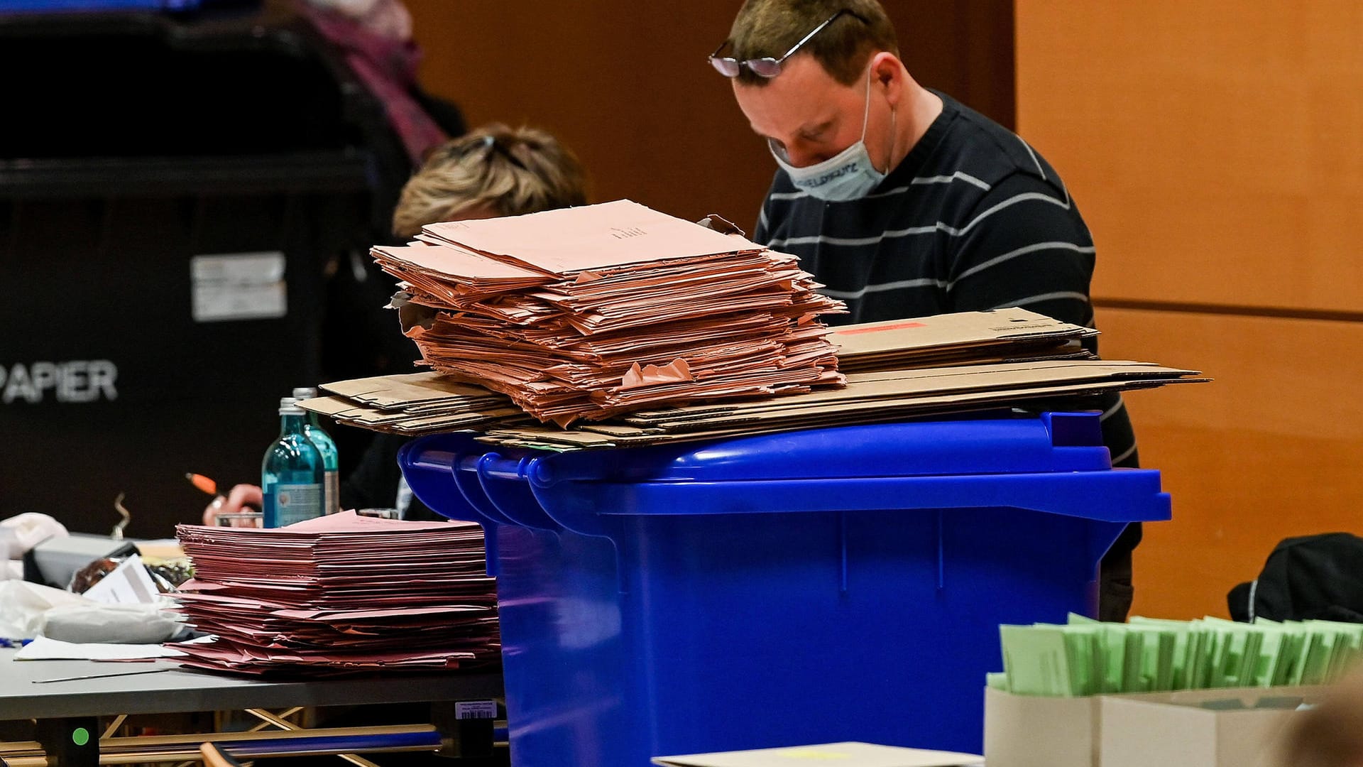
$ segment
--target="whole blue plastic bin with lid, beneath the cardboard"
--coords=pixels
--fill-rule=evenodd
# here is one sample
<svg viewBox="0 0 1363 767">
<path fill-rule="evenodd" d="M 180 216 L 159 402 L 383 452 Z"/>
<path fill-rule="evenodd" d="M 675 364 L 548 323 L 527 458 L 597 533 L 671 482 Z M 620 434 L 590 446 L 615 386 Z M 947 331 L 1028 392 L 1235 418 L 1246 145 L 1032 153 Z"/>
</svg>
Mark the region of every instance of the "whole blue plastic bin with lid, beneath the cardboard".
<svg viewBox="0 0 1363 767">
<path fill-rule="evenodd" d="M 796 431 L 646 449 L 399 454 L 483 523 L 518 767 L 872 741 L 979 752 L 999 624 L 1094 614 L 1160 475 L 1096 414 Z"/>
</svg>

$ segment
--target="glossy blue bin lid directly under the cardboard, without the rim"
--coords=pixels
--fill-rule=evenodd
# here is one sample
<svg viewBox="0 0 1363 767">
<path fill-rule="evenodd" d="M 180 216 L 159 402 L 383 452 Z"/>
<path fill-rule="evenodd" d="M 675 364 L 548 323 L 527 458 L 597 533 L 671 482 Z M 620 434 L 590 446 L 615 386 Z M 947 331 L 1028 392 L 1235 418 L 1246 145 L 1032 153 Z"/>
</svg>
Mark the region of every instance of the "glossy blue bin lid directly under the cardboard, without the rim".
<svg viewBox="0 0 1363 767">
<path fill-rule="evenodd" d="M 1112 468 L 1097 412 L 882 423 L 653 448 L 503 454 L 540 486 L 570 479 L 726 482 Z M 540 457 L 526 465 L 523 459 L 534 454 Z"/>
</svg>

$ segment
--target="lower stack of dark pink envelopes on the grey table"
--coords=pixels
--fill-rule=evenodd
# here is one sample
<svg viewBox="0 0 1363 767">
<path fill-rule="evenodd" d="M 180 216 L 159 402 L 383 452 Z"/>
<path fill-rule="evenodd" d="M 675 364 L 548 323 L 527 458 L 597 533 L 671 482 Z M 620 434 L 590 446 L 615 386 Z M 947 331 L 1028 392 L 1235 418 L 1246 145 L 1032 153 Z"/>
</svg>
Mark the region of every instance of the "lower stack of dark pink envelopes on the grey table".
<svg viewBox="0 0 1363 767">
<path fill-rule="evenodd" d="M 275 530 L 181 524 L 188 666 L 274 676 L 432 671 L 500 659 L 474 523 L 342 512 Z"/>
</svg>

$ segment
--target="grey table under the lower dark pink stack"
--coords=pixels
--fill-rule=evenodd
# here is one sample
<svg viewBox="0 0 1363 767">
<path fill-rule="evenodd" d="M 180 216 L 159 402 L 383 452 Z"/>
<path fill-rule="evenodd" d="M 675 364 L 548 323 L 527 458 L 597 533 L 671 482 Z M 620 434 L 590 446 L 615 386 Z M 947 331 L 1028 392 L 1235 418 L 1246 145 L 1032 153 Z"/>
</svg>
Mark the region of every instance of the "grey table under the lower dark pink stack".
<svg viewBox="0 0 1363 767">
<path fill-rule="evenodd" d="M 181 669 L 173 661 L 14 661 L 15 652 L 0 650 L 0 721 L 37 719 L 40 742 L 53 767 L 98 764 L 98 717 L 502 696 L 502 676 L 495 671 L 264 681 Z M 153 669 L 155 673 L 129 674 Z M 94 678 L 46 681 L 68 677 Z M 491 740 L 492 722 L 485 722 Z M 87 742 L 72 741 L 78 729 L 85 730 Z"/>
</svg>

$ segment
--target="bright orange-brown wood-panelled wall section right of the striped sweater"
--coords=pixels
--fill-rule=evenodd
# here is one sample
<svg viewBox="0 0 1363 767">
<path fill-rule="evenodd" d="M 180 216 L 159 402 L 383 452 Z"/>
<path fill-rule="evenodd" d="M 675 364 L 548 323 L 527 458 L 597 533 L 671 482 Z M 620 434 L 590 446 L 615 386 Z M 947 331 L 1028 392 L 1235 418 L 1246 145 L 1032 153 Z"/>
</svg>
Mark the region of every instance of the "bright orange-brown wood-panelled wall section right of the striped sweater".
<svg viewBox="0 0 1363 767">
<path fill-rule="evenodd" d="M 1017 0 L 1018 131 L 1093 229 L 1104 356 L 1174 520 L 1135 613 L 1225 616 L 1283 538 L 1363 534 L 1363 4 Z"/>
</svg>

